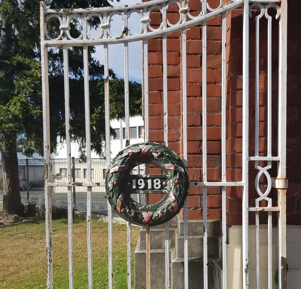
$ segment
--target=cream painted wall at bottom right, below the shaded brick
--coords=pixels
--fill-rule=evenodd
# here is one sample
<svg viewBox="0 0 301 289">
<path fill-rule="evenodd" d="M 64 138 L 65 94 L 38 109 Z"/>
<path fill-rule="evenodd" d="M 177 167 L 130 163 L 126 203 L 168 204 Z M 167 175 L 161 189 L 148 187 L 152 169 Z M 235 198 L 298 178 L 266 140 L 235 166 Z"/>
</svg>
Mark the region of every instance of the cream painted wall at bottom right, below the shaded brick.
<svg viewBox="0 0 301 289">
<path fill-rule="evenodd" d="M 243 288 L 242 272 L 242 226 L 228 228 L 229 244 L 227 246 L 227 286 L 231 289 Z M 256 288 L 256 239 L 255 226 L 249 226 L 249 280 L 250 289 Z M 268 228 L 260 225 L 259 228 L 259 261 L 260 261 L 260 288 L 268 288 Z M 275 272 L 278 269 L 278 241 L 277 227 L 272 229 L 272 280 L 275 284 Z M 287 226 L 287 288 L 301 288 L 301 226 Z"/>
</svg>

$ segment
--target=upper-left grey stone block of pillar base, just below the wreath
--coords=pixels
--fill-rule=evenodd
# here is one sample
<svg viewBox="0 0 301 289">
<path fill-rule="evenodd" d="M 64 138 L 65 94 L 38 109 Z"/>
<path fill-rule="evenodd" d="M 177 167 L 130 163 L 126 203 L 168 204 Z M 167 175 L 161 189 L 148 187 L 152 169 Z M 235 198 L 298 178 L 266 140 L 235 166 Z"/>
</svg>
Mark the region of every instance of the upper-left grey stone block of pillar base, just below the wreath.
<svg viewBox="0 0 301 289">
<path fill-rule="evenodd" d="M 139 232 L 140 249 L 146 248 L 146 229 L 141 227 Z M 165 249 L 165 229 L 151 227 L 150 230 L 151 249 Z M 169 230 L 169 248 L 175 248 L 175 229 Z"/>
</svg>

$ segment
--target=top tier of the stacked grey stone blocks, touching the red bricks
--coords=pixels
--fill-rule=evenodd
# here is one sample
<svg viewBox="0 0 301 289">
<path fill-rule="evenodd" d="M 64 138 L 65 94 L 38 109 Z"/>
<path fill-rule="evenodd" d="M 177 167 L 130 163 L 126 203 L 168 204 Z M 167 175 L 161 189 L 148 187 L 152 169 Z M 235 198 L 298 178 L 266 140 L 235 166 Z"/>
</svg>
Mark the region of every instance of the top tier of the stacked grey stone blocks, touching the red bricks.
<svg viewBox="0 0 301 289">
<path fill-rule="evenodd" d="M 220 236 L 222 230 L 222 224 L 220 220 L 208 220 L 207 221 L 207 236 Z M 178 229 L 181 236 L 184 236 L 184 220 L 178 222 Z M 204 223 L 203 220 L 188 220 L 188 236 L 204 235 Z"/>
</svg>

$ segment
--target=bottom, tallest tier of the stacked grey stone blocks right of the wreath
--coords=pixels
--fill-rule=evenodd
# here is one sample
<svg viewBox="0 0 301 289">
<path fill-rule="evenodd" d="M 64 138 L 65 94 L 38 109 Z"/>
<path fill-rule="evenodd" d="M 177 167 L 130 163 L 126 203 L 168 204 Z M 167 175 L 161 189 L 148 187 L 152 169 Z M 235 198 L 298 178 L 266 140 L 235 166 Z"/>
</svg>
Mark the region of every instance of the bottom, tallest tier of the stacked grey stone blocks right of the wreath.
<svg viewBox="0 0 301 289">
<path fill-rule="evenodd" d="M 171 254 L 171 283 L 172 289 L 184 288 L 184 258 L 177 258 L 176 252 Z M 203 259 L 190 258 L 188 259 L 188 287 L 189 288 L 204 288 L 203 279 Z M 213 279 L 213 261 L 208 260 L 208 289 L 214 289 Z M 136 288 L 136 287 L 135 287 Z"/>
</svg>

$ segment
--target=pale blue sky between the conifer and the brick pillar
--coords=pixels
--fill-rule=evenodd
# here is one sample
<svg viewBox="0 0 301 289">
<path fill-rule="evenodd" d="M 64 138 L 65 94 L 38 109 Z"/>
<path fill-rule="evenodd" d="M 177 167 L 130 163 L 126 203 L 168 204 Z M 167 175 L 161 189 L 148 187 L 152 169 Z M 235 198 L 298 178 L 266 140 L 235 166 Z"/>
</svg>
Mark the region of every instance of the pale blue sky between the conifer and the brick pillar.
<svg viewBox="0 0 301 289">
<path fill-rule="evenodd" d="M 129 5 L 135 4 L 139 0 L 120 0 L 119 3 L 113 2 L 113 5 Z M 123 22 L 119 15 L 114 15 L 111 22 L 111 33 L 118 35 L 123 27 Z M 140 27 L 140 16 L 133 13 L 129 18 L 129 28 L 137 33 L 137 27 Z M 139 29 L 138 29 L 139 30 Z M 90 32 L 91 36 L 97 36 L 98 32 L 93 30 Z M 123 44 L 109 45 L 109 67 L 113 69 L 117 77 L 124 78 L 124 58 L 123 58 Z M 104 49 L 103 46 L 96 47 L 95 58 L 101 64 L 104 63 Z M 141 83 L 141 41 L 129 43 L 129 80 L 135 80 Z"/>
</svg>

